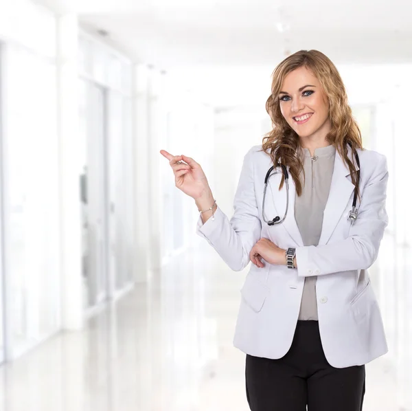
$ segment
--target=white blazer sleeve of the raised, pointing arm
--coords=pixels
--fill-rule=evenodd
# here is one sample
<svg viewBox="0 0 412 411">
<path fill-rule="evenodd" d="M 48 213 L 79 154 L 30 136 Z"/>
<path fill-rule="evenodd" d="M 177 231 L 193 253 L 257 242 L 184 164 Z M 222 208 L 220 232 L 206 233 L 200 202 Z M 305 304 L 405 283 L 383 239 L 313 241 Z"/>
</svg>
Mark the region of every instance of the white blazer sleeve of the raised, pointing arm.
<svg viewBox="0 0 412 411">
<path fill-rule="evenodd" d="M 210 218 L 203 224 L 199 217 L 197 223 L 197 234 L 206 238 L 233 271 L 241 271 L 249 264 L 249 253 L 260 240 L 262 230 L 253 184 L 253 152 L 251 148 L 244 156 L 230 221 L 218 207 L 214 220 Z"/>
</svg>

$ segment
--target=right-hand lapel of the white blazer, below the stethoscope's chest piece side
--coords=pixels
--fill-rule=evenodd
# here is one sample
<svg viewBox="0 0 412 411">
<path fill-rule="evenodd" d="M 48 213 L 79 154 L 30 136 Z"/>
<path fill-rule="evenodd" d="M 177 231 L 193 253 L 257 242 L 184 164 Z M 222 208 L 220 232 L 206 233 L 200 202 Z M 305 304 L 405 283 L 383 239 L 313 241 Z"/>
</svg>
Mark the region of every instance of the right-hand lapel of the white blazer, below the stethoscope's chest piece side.
<svg viewBox="0 0 412 411">
<path fill-rule="evenodd" d="M 351 158 L 352 152 L 350 149 L 348 155 Z M 355 164 L 355 167 L 356 170 L 358 170 L 357 164 Z M 354 188 L 355 186 L 352 184 L 352 179 L 350 178 L 350 171 L 336 150 L 329 197 L 323 212 L 323 223 L 319 245 L 328 243 L 339 219 L 341 219 L 342 213 L 347 207 L 347 202 L 350 200 Z"/>
</svg>

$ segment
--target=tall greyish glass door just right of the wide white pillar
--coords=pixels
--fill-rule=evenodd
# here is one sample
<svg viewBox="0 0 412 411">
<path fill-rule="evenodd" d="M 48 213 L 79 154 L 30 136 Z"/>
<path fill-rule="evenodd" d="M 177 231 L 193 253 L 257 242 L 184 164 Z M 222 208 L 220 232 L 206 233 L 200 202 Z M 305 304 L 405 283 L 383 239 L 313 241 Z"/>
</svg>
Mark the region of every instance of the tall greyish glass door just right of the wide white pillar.
<svg viewBox="0 0 412 411">
<path fill-rule="evenodd" d="M 84 141 L 80 174 L 84 308 L 108 298 L 106 199 L 106 91 L 80 80 L 80 135 Z"/>
</svg>

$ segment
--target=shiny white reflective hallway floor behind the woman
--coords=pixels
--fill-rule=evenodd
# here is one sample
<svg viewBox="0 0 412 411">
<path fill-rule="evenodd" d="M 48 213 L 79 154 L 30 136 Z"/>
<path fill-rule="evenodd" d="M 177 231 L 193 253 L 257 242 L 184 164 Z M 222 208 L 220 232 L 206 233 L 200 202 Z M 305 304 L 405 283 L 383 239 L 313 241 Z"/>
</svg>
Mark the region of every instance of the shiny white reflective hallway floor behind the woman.
<svg viewBox="0 0 412 411">
<path fill-rule="evenodd" d="M 247 411 L 244 355 L 232 346 L 246 271 L 205 243 L 93 318 L 0 368 L 4 411 Z M 378 282 L 378 281 L 377 281 Z M 394 411 L 389 355 L 367 366 L 364 411 Z"/>
</svg>

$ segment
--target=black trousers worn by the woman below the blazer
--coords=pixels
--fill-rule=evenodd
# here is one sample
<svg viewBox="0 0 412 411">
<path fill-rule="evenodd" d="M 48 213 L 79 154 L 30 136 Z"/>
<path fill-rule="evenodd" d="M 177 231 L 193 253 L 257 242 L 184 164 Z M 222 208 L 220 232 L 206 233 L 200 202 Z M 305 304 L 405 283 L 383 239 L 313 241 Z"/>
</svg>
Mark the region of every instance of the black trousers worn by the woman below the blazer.
<svg viewBox="0 0 412 411">
<path fill-rule="evenodd" d="M 247 355 L 246 394 L 251 411 L 362 411 L 365 366 L 330 366 L 319 323 L 298 321 L 284 357 Z"/>
</svg>

